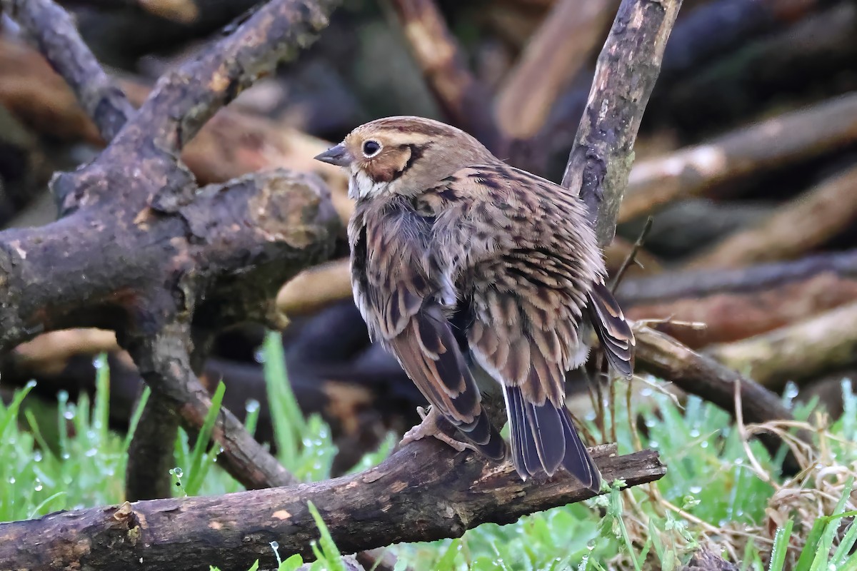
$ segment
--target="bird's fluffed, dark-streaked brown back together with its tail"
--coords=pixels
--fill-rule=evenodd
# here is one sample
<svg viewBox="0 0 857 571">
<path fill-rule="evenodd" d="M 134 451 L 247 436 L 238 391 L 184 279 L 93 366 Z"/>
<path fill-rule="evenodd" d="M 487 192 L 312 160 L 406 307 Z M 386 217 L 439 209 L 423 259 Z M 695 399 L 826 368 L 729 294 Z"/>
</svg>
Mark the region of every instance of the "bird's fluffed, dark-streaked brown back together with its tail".
<svg viewBox="0 0 857 571">
<path fill-rule="evenodd" d="M 455 187 L 469 206 L 470 351 L 503 387 L 518 473 L 563 465 L 600 477 L 565 407 L 565 372 L 588 347 L 580 326 L 603 262 L 584 205 L 549 181 L 505 165 L 474 167 Z M 480 236 L 485 236 L 482 243 Z"/>
</svg>

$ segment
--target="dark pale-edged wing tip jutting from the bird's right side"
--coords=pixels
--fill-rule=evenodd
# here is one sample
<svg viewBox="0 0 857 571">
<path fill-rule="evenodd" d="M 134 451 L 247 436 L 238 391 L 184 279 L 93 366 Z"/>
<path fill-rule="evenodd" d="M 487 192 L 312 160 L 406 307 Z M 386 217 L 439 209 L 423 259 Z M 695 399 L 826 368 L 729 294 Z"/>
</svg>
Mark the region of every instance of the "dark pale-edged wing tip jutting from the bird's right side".
<svg viewBox="0 0 857 571">
<path fill-rule="evenodd" d="M 602 283 L 593 283 L 589 294 L 590 321 L 607 360 L 626 378 L 633 372 L 634 334 L 613 294 Z"/>
</svg>

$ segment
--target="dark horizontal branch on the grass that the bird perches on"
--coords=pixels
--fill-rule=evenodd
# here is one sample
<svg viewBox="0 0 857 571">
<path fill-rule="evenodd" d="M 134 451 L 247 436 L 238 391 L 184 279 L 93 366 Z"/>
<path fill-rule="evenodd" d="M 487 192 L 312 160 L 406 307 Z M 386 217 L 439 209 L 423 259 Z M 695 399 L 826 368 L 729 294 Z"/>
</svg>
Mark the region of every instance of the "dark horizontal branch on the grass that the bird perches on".
<svg viewBox="0 0 857 571">
<path fill-rule="evenodd" d="M 666 469 L 656 452 L 592 450 L 603 478 L 640 485 Z M 275 567 L 280 556 L 312 557 L 319 509 L 344 553 L 408 541 L 457 538 L 482 523 L 592 497 L 570 476 L 522 482 L 510 463 L 453 454 L 432 438 L 411 443 L 379 467 L 317 484 L 220 497 L 186 497 L 60 512 L 0 524 L 0 568 L 195 569 Z"/>
</svg>

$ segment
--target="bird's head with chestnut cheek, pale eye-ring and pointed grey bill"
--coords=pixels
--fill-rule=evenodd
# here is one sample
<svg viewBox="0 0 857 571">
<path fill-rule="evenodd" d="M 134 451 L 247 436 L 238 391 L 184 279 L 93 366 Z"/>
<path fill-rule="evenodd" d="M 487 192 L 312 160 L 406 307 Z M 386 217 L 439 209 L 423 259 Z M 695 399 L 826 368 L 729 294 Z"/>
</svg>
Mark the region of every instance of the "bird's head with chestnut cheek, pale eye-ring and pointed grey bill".
<svg viewBox="0 0 857 571">
<path fill-rule="evenodd" d="M 350 170 L 356 200 L 422 193 L 459 169 L 496 160 L 461 129 L 414 116 L 364 123 L 315 159 Z"/>
</svg>

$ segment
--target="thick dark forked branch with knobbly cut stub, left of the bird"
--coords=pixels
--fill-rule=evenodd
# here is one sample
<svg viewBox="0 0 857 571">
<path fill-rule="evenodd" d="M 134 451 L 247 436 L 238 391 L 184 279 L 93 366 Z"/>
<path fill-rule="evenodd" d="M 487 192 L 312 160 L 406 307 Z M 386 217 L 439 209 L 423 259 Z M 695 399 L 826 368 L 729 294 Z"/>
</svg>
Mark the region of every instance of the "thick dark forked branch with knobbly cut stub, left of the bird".
<svg viewBox="0 0 857 571">
<path fill-rule="evenodd" d="M 45 6 L 53 4 L 13 3 L 9 14 L 40 44 L 57 36 L 75 45 L 51 51 L 51 65 L 69 85 L 85 85 L 87 69 L 75 57 L 86 46 L 68 21 L 51 16 L 56 7 Z M 118 113 L 99 120 L 102 134 L 116 133 L 110 145 L 52 180 L 61 219 L 0 233 L 0 349 L 41 331 L 115 330 L 153 392 L 186 428 L 201 426 L 210 402 L 192 364 L 201 366 L 207 337 L 245 320 L 279 324 L 279 286 L 329 256 L 341 226 L 318 177 L 271 171 L 199 188 L 177 153 L 215 110 L 315 39 L 332 9 L 333 2 L 269 3 L 160 80 L 123 126 L 107 128 L 122 121 Z M 123 99 L 110 86 L 101 91 Z M 75 94 L 86 101 L 87 93 Z M 228 411 L 213 438 L 225 450 L 222 465 L 244 485 L 291 481 Z"/>
</svg>

